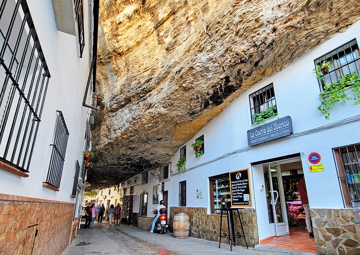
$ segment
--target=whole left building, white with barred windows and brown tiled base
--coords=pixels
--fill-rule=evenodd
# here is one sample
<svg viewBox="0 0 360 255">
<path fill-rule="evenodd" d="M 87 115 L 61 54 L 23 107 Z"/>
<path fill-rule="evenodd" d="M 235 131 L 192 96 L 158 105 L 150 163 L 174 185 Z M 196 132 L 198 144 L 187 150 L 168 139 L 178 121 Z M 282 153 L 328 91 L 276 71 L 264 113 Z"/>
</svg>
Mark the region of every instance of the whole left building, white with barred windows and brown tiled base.
<svg viewBox="0 0 360 255">
<path fill-rule="evenodd" d="M 2 254 L 60 254 L 76 233 L 94 111 L 83 106 L 93 101 L 93 5 L 1 1 Z"/>
</svg>

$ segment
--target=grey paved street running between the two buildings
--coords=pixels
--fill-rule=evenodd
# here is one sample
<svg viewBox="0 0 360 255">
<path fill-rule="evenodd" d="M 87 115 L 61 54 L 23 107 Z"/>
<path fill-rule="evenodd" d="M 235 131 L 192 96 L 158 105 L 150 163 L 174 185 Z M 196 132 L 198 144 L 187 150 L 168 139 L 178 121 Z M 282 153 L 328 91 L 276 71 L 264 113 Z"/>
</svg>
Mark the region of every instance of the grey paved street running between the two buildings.
<svg viewBox="0 0 360 255">
<path fill-rule="evenodd" d="M 173 233 L 150 234 L 148 230 L 133 226 L 109 226 L 108 223 L 95 223 L 94 229 L 84 230 L 72 241 L 62 255 L 207 255 L 207 254 L 244 254 L 244 255 L 310 255 L 293 250 L 278 249 L 257 245 L 253 248 L 233 247 L 229 245 L 189 237 L 175 239 Z"/>
</svg>

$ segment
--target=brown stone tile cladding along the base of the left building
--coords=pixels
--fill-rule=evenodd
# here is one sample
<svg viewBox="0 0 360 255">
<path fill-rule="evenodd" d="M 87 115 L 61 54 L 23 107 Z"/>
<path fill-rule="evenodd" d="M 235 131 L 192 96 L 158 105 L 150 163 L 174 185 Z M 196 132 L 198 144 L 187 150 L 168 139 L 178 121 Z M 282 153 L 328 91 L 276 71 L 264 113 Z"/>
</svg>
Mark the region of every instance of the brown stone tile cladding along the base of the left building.
<svg viewBox="0 0 360 255">
<path fill-rule="evenodd" d="M 69 244 L 73 206 L 0 200 L 0 254 L 31 254 L 32 249 L 34 255 L 61 254 Z M 36 227 L 28 229 L 33 225 L 36 237 Z"/>
</svg>

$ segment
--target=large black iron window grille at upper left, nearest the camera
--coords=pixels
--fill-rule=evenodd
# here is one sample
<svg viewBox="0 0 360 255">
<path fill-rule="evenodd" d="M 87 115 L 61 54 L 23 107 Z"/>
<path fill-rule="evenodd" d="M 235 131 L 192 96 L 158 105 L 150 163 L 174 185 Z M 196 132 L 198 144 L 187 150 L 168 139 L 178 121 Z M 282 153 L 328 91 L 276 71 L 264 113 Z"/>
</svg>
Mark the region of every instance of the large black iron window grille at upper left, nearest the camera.
<svg viewBox="0 0 360 255">
<path fill-rule="evenodd" d="M 0 4 L 0 160 L 29 172 L 50 73 L 26 0 Z"/>
</svg>

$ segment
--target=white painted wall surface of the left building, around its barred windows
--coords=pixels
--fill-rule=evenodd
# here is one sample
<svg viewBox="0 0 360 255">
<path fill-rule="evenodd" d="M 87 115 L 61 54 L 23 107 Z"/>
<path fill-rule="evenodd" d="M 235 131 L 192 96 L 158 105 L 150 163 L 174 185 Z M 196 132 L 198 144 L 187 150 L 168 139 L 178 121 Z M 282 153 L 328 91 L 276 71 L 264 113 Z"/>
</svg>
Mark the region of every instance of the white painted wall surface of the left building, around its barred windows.
<svg viewBox="0 0 360 255">
<path fill-rule="evenodd" d="M 71 198 L 70 195 L 75 160 L 78 160 L 81 165 L 85 125 L 89 113 L 88 108 L 82 107 L 90 68 L 88 1 L 84 1 L 86 42 L 81 59 L 79 58 L 77 37 L 57 30 L 51 1 L 28 0 L 27 2 L 51 78 L 29 169 L 30 176 L 23 178 L 1 169 L 0 193 L 74 203 L 75 198 Z M 42 186 L 42 182 L 46 180 L 51 156 L 50 144 L 53 143 L 56 110 L 62 111 L 70 133 L 60 191 L 58 192 Z"/>
</svg>

